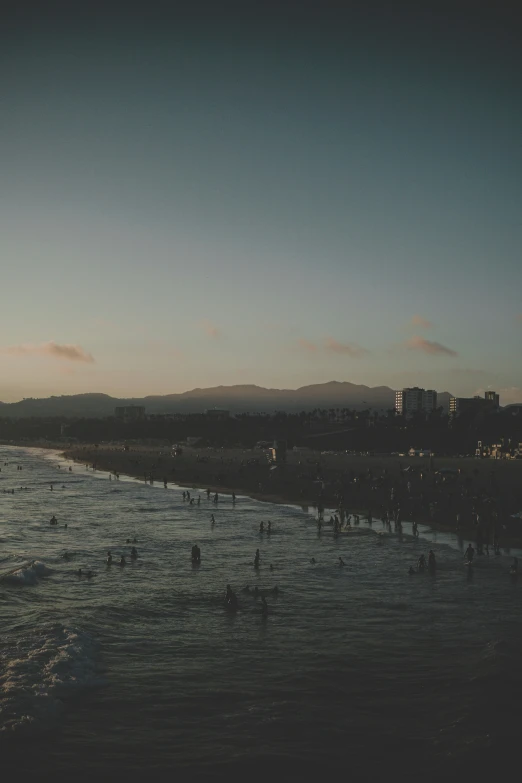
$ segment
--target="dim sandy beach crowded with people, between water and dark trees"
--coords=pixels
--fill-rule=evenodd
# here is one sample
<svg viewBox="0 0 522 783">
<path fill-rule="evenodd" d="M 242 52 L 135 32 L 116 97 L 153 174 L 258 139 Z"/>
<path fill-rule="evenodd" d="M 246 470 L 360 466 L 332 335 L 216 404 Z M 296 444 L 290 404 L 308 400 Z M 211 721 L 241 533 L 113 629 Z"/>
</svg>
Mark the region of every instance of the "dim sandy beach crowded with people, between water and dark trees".
<svg viewBox="0 0 522 783">
<path fill-rule="evenodd" d="M 144 481 L 210 489 L 220 494 L 300 506 L 337 508 L 379 517 L 400 507 L 403 520 L 415 519 L 476 541 L 522 544 L 522 463 L 472 458 L 363 457 L 348 454 L 290 453 L 271 469 L 260 450 L 184 448 L 172 456 L 166 447 L 82 445 L 68 458 L 91 468 Z M 441 472 L 442 471 L 442 472 Z M 478 515 L 478 525 L 477 516 Z M 479 532 L 479 528 L 481 531 Z"/>
</svg>

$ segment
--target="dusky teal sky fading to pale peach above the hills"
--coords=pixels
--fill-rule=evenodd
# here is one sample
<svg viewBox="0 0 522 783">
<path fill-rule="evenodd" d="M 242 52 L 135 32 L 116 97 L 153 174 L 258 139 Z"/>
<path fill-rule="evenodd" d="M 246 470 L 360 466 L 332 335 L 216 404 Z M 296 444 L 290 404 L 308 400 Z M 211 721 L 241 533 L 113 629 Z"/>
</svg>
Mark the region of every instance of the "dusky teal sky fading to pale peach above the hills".
<svg viewBox="0 0 522 783">
<path fill-rule="evenodd" d="M 0 400 L 339 380 L 522 402 L 514 11 L 21 5 Z"/>
</svg>

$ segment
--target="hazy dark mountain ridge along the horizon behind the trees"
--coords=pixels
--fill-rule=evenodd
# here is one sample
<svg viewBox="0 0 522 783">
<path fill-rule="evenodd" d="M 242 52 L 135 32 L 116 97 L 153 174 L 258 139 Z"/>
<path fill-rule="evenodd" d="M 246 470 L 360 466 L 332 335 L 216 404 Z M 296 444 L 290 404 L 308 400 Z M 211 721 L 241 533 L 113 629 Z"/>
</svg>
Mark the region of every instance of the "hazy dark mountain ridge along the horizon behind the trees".
<svg viewBox="0 0 522 783">
<path fill-rule="evenodd" d="M 439 404 L 449 406 L 450 394 L 439 394 Z M 43 399 L 26 398 L 1 403 L 2 417 L 30 416 L 103 417 L 119 405 L 144 405 L 147 413 L 202 413 L 206 408 L 226 408 L 232 413 L 275 410 L 297 412 L 314 408 L 373 408 L 386 411 L 395 405 L 395 391 L 388 386 L 364 386 L 347 381 L 302 386 L 300 389 L 265 389 L 263 386 L 216 386 L 181 394 L 119 399 L 108 394 L 72 394 Z"/>
</svg>

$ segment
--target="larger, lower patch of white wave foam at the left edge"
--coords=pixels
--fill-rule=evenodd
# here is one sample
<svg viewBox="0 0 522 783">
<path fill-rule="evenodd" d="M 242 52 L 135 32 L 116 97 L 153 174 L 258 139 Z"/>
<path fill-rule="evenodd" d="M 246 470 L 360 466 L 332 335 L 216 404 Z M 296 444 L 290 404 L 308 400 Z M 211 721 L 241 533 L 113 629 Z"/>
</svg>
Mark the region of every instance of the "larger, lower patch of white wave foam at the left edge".
<svg viewBox="0 0 522 783">
<path fill-rule="evenodd" d="M 0 732 L 52 728 L 68 693 L 103 684 L 98 645 L 75 628 L 31 634 L 0 655 Z"/>
</svg>

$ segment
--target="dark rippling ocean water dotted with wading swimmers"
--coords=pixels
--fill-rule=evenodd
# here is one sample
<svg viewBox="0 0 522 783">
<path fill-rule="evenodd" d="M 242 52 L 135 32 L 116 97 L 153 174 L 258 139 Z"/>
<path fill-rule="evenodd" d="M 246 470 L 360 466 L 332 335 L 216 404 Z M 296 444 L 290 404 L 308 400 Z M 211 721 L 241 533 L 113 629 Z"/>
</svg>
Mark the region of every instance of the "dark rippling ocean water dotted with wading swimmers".
<svg viewBox="0 0 522 783">
<path fill-rule="evenodd" d="M 0 468 L 4 772 L 435 779 L 516 758 L 517 552 L 468 569 L 468 542 L 427 527 L 361 520 L 334 539 L 311 508 L 215 506 L 204 488 L 190 506 L 40 449 L 1 447 Z M 436 574 L 409 576 L 430 548 Z"/>
</svg>

